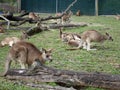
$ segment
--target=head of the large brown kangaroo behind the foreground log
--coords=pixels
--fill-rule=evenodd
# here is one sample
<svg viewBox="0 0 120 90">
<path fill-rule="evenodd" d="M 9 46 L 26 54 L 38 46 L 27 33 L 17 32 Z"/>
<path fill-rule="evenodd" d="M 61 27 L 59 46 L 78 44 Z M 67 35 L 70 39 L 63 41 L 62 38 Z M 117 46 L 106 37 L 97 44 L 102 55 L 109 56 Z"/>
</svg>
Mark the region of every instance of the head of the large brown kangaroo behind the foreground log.
<svg viewBox="0 0 120 90">
<path fill-rule="evenodd" d="M 52 61 L 52 55 L 51 55 L 52 50 L 53 49 L 46 50 L 46 49 L 42 48 L 42 50 L 41 50 L 41 52 L 42 52 L 42 58 L 44 60 L 50 60 L 50 61 Z"/>
</svg>

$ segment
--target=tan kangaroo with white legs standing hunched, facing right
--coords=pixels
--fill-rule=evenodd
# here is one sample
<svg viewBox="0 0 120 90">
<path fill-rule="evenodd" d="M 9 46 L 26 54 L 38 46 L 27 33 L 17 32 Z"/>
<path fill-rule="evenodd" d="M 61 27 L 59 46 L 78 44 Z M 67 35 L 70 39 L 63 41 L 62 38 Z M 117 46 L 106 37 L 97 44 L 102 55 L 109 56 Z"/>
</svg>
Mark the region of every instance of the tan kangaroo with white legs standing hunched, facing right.
<svg viewBox="0 0 120 90">
<path fill-rule="evenodd" d="M 83 41 L 83 49 L 87 49 L 87 51 L 96 50 L 96 49 L 90 48 L 91 42 L 103 42 L 105 40 L 113 41 L 112 37 L 108 33 L 106 33 L 105 35 L 102 35 L 96 30 L 88 30 L 83 32 L 81 34 L 81 39 Z"/>
</svg>

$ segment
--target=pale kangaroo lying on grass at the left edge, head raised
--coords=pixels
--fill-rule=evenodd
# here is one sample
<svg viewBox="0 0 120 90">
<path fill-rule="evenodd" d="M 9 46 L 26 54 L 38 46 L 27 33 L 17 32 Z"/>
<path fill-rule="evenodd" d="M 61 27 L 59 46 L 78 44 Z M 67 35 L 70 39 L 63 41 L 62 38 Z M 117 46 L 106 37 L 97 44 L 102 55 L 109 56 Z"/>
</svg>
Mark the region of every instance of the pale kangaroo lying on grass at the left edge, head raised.
<svg viewBox="0 0 120 90">
<path fill-rule="evenodd" d="M 10 46 L 12 47 L 13 44 L 19 42 L 19 41 L 24 41 L 25 39 L 29 39 L 29 36 L 27 35 L 26 32 L 22 32 L 22 35 L 20 36 L 20 38 L 18 37 L 6 37 L 4 38 L 1 43 L 0 43 L 0 46 L 3 47 L 3 46 Z"/>
</svg>

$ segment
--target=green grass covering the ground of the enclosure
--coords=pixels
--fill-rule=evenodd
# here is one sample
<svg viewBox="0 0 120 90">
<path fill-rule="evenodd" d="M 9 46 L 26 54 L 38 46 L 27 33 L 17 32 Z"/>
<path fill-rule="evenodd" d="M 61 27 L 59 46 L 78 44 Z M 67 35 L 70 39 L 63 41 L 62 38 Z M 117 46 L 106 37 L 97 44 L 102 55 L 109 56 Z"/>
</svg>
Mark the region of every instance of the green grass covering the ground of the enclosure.
<svg viewBox="0 0 120 90">
<path fill-rule="evenodd" d="M 84 72 L 104 72 L 109 74 L 120 74 L 120 21 L 113 17 L 106 16 L 73 16 L 75 22 L 85 22 L 100 24 L 100 26 L 86 26 L 74 29 L 65 29 L 64 32 L 82 33 L 85 30 L 95 29 L 101 33 L 108 32 L 114 41 L 106 41 L 103 44 L 94 43 L 96 51 L 75 50 L 67 51 L 70 48 L 59 38 L 58 30 L 45 31 L 32 36 L 28 41 L 34 43 L 38 48 L 53 48 L 53 62 L 47 62 L 46 65 L 58 69 L 84 71 Z M 29 24 L 23 25 L 29 26 Z M 0 40 L 6 36 L 20 36 L 21 31 L 8 30 L 8 34 L 0 35 Z M 9 47 L 0 48 L 0 72 L 4 69 L 5 56 Z M 13 64 L 14 65 L 14 64 Z M 24 85 L 11 83 L 10 81 L 0 77 L 0 90 L 37 90 L 31 89 Z M 86 90 L 103 90 L 89 87 Z"/>
</svg>

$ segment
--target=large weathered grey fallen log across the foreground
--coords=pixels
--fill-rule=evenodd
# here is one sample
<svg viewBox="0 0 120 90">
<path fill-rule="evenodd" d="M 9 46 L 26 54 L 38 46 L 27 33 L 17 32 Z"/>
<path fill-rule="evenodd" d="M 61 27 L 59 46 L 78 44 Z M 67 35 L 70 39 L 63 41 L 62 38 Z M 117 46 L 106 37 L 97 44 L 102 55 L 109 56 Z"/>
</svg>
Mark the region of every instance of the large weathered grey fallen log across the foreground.
<svg viewBox="0 0 120 90">
<path fill-rule="evenodd" d="M 109 90 L 120 89 L 120 75 L 110 75 L 99 72 L 86 73 L 69 70 L 59 70 L 47 66 L 41 66 L 33 71 L 10 70 L 6 76 L 10 80 L 22 80 L 24 82 L 54 82 L 64 87 L 97 87 Z"/>
</svg>

